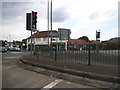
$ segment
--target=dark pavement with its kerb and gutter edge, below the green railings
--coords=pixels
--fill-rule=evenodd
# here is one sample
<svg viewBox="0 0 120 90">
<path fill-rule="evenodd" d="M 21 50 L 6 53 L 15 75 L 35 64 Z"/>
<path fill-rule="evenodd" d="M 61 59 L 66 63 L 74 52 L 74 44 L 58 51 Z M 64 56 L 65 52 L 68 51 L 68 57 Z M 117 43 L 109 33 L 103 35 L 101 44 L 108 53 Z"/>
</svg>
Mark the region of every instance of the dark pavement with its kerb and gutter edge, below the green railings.
<svg viewBox="0 0 120 90">
<path fill-rule="evenodd" d="M 46 60 L 31 55 L 21 57 L 19 65 L 22 67 L 27 66 L 27 69 L 38 73 L 98 88 L 118 88 L 120 86 L 120 77 L 118 75 L 120 69 L 118 68 Z"/>
</svg>

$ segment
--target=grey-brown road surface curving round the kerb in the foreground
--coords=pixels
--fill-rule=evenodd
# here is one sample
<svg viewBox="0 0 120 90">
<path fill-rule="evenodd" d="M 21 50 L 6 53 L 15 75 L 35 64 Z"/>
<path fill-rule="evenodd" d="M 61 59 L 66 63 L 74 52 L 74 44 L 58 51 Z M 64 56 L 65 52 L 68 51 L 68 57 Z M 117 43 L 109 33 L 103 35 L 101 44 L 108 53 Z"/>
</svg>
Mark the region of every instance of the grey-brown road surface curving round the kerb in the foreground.
<svg viewBox="0 0 120 90">
<path fill-rule="evenodd" d="M 29 52 L 7 52 L 2 54 L 3 88 L 93 88 L 78 83 L 24 70 L 17 65 L 17 60 Z"/>
</svg>

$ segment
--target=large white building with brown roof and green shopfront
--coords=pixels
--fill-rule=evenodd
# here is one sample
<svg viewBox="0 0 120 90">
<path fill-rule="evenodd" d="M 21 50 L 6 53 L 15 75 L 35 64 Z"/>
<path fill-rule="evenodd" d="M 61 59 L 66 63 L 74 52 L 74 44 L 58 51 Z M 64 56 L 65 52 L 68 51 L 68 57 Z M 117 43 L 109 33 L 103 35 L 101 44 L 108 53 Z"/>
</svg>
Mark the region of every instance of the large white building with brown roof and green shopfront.
<svg viewBox="0 0 120 90">
<path fill-rule="evenodd" d="M 58 50 L 67 50 L 67 41 L 68 40 L 60 40 L 58 31 L 56 30 L 37 31 L 32 35 L 32 45 L 39 50 L 44 50 L 51 45 L 53 48 L 57 48 Z M 27 38 L 27 50 L 30 50 L 30 45 L 31 36 Z"/>
</svg>

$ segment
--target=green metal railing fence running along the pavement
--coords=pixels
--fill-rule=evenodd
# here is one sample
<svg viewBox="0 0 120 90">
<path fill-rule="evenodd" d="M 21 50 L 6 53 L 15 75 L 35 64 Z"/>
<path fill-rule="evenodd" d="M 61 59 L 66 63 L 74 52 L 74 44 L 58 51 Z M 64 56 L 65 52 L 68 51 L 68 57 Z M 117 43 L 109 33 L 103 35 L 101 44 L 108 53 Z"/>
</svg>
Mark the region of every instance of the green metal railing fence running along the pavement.
<svg viewBox="0 0 120 90">
<path fill-rule="evenodd" d="M 72 62 L 78 64 L 99 65 L 107 67 L 119 67 L 118 58 L 120 58 L 119 50 L 92 50 L 88 45 L 84 50 L 43 50 L 37 54 L 39 58 L 54 61 Z"/>
</svg>

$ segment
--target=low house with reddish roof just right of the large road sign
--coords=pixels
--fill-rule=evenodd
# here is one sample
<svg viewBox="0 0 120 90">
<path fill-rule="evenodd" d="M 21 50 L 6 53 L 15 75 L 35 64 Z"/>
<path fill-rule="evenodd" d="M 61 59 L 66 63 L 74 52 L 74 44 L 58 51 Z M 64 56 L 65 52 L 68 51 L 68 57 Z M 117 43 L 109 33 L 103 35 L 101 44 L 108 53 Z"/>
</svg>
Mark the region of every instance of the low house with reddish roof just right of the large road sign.
<svg viewBox="0 0 120 90">
<path fill-rule="evenodd" d="M 70 46 L 70 50 L 83 50 L 86 48 L 87 44 L 88 43 L 82 39 L 71 39 L 68 42 L 68 45 Z"/>
</svg>

